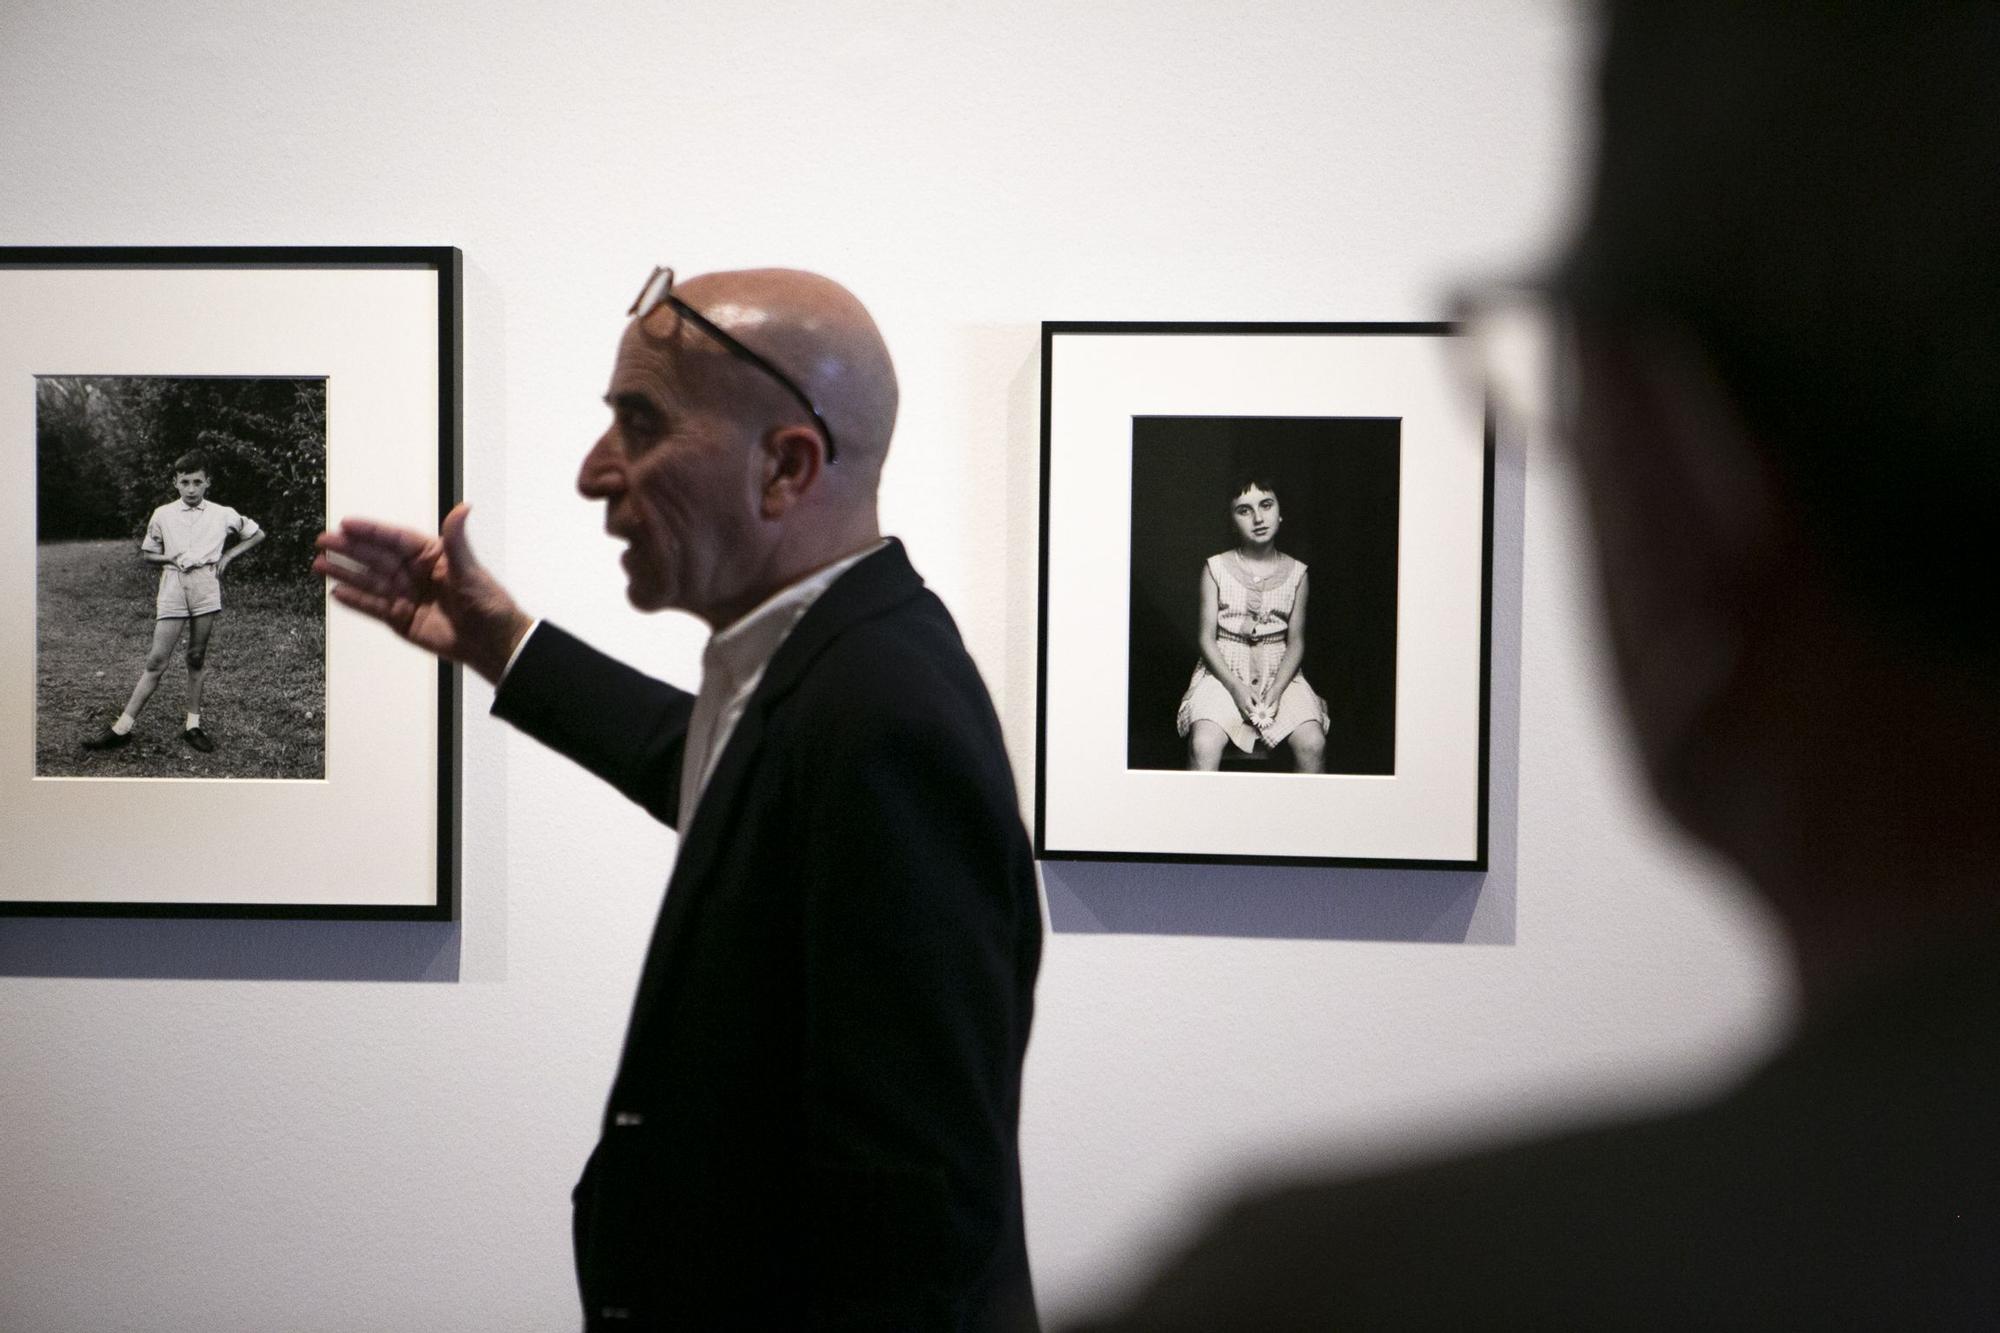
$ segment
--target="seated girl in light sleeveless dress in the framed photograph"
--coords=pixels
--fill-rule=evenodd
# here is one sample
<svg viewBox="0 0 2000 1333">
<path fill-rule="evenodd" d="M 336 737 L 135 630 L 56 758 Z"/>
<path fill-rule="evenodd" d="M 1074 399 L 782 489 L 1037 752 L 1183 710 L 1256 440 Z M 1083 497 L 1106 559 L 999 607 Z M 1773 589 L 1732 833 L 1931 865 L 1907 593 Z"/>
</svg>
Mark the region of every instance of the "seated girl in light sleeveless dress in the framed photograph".
<svg viewBox="0 0 2000 1333">
<path fill-rule="evenodd" d="M 1236 546 L 1202 562 L 1200 660 L 1176 727 L 1188 769 L 1214 773 L 1222 747 L 1292 747 L 1298 773 L 1326 771 L 1326 701 L 1298 675 L 1306 654 L 1306 566 L 1278 550 L 1278 490 L 1246 476 L 1230 490 Z"/>
</svg>

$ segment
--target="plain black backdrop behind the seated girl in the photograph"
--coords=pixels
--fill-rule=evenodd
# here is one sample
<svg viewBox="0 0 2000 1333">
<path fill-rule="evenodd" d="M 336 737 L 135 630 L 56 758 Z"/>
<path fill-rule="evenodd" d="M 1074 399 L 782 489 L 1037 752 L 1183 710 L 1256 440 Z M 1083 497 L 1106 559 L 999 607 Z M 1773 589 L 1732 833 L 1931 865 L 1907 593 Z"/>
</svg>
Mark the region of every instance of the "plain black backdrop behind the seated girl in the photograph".
<svg viewBox="0 0 2000 1333">
<path fill-rule="evenodd" d="M 1186 769 L 1174 731 L 1198 660 L 1202 562 L 1236 546 L 1230 486 L 1268 472 L 1278 550 L 1308 566 L 1300 675 L 1326 699 L 1328 773 L 1396 771 L 1394 416 L 1134 416 L 1128 769 Z M 1234 757 L 1234 759 L 1232 759 Z M 1224 769 L 1240 767 L 1228 747 Z M 1280 747 L 1266 765 L 1290 773 Z"/>
</svg>

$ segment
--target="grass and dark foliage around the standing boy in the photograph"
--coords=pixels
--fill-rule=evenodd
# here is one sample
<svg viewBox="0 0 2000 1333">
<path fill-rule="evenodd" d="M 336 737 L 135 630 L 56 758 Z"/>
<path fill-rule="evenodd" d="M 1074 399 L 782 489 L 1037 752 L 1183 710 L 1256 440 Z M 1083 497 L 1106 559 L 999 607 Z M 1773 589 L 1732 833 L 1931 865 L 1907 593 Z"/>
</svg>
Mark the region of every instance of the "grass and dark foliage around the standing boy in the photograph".
<svg viewBox="0 0 2000 1333">
<path fill-rule="evenodd" d="M 326 775 L 326 380 L 44 374 L 34 382 L 38 777 L 320 779 Z M 212 464 L 208 498 L 264 544 L 230 564 L 208 644 L 200 755 L 180 741 L 182 632 L 132 745 L 88 753 L 132 695 L 160 566 L 138 556 L 174 502 L 174 460 Z"/>
</svg>

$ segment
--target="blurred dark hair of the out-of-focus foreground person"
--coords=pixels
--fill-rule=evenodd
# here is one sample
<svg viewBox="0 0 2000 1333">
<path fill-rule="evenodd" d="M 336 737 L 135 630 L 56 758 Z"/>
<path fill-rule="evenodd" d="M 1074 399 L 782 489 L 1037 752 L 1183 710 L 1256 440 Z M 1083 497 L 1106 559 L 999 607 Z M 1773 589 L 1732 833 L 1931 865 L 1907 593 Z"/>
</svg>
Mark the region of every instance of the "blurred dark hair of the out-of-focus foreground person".
<svg viewBox="0 0 2000 1333">
<path fill-rule="evenodd" d="M 1562 286 L 1710 356 L 1838 582 L 2000 664 L 2000 6 L 1610 0 Z"/>
</svg>

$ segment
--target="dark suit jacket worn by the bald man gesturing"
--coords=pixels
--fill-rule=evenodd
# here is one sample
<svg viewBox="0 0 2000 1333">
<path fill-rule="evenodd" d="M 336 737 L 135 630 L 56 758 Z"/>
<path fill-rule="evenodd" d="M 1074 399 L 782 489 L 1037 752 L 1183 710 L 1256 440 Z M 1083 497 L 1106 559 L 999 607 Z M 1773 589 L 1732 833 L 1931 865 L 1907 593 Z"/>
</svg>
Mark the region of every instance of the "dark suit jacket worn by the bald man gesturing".
<svg viewBox="0 0 2000 1333">
<path fill-rule="evenodd" d="M 494 713 L 674 823 L 692 703 L 542 624 Z M 992 703 L 892 542 L 778 648 L 680 847 L 576 1187 L 590 1327 L 1032 1325 L 1040 949 Z"/>
</svg>

